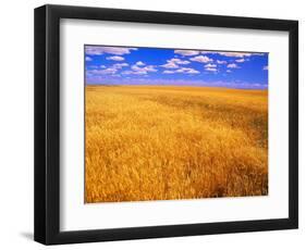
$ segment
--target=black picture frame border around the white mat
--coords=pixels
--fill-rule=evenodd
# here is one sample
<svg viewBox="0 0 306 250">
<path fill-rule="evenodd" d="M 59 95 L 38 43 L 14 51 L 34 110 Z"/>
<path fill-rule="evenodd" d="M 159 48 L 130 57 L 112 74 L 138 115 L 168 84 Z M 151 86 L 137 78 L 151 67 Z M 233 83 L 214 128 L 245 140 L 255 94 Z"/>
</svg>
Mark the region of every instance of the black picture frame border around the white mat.
<svg viewBox="0 0 306 250">
<path fill-rule="evenodd" d="M 60 20 L 289 32 L 289 217 L 60 232 Z M 285 164 L 285 163 L 284 163 Z M 35 9 L 35 240 L 45 245 L 242 233 L 298 227 L 298 22 L 68 5 Z"/>
</svg>

